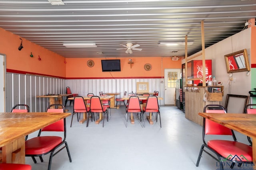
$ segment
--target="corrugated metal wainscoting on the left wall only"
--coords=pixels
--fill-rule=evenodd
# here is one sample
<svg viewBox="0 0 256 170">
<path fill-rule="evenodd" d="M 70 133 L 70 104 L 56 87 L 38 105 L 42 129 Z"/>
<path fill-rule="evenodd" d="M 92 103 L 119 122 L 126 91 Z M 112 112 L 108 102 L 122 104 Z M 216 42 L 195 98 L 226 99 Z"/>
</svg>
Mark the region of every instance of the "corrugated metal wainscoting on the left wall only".
<svg viewBox="0 0 256 170">
<path fill-rule="evenodd" d="M 16 104 L 27 104 L 31 112 L 45 111 L 47 98 L 36 98 L 45 94 L 65 94 L 66 80 L 52 77 L 6 73 L 6 111 Z M 63 98 L 63 100 L 65 100 Z"/>
</svg>

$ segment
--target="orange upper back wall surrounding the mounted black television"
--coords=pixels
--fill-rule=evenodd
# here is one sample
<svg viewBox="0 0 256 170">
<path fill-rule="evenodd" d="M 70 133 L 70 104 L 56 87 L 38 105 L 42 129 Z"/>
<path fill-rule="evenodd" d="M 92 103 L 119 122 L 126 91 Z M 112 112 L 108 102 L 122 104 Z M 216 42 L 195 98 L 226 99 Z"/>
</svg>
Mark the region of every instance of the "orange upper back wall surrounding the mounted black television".
<svg viewBox="0 0 256 170">
<path fill-rule="evenodd" d="M 164 68 L 181 68 L 181 60 L 172 61 L 171 57 L 130 57 L 130 58 L 107 58 L 120 59 L 120 72 L 102 72 L 101 60 L 106 58 L 67 58 L 66 77 L 67 78 L 136 78 L 136 77 L 161 77 L 164 76 Z M 128 59 L 132 59 L 134 64 L 128 64 Z M 161 72 L 161 59 L 163 60 L 163 70 Z M 88 67 L 87 61 L 93 60 L 94 66 Z M 146 71 L 145 64 L 151 64 L 152 69 Z M 162 75 L 163 74 L 163 75 Z"/>
</svg>

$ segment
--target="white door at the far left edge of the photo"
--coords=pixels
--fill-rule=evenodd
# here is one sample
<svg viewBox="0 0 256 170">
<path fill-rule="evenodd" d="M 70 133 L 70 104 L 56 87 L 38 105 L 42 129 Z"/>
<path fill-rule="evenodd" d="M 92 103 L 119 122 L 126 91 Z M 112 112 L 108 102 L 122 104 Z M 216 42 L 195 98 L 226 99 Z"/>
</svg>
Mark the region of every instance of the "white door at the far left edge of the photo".
<svg viewBox="0 0 256 170">
<path fill-rule="evenodd" d="M 0 112 L 5 112 L 5 56 L 0 54 Z"/>
</svg>

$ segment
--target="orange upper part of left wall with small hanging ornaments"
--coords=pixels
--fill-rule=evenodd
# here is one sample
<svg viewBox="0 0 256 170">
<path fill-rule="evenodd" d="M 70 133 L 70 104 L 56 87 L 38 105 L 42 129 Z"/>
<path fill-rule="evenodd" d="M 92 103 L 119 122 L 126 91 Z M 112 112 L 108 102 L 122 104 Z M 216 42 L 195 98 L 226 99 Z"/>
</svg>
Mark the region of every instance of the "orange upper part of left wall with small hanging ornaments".
<svg viewBox="0 0 256 170">
<path fill-rule="evenodd" d="M 66 77 L 64 57 L 0 28 L 0 53 L 6 55 L 6 69 Z M 18 50 L 22 38 L 23 49 Z M 34 57 L 30 57 L 30 54 Z M 41 61 L 38 60 L 40 55 Z"/>
</svg>

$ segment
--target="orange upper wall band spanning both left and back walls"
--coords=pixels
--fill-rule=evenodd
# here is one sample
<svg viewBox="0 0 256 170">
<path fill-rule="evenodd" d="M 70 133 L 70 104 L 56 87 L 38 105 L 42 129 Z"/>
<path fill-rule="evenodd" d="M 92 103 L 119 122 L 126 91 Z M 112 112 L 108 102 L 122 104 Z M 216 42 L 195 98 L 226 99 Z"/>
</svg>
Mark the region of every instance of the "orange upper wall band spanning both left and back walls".
<svg viewBox="0 0 256 170">
<path fill-rule="evenodd" d="M 102 72 L 101 60 L 110 58 L 64 58 L 52 51 L 36 45 L 18 35 L 0 28 L 0 53 L 6 55 L 6 68 L 31 74 L 42 74 L 62 78 L 138 78 L 164 76 L 165 68 L 181 68 L 181 60 L 172 61 L 171 57 L 130 57 L 111 58 L 121 60 L 120 72 Z M 22 38 L 23 49 L 18 50 Z M 34 57 L 30 57 L 30 54 Z M 41 61 L 38 61 L 40 55 Z M 88 60 L 94 61 L 93 67 L 87 66 Z M 132 68 L 128 64 L 132 59 Z M 64 63 L 66 60 L 66 64 Z M 161 60 L 163 62 L 161 62 Z M 144 65 L 152 65 L 150 71 L 144 69 Z M 163 69 L 161 70 L 161 63 Z M 15 71 L 14 71 L 15 72 Z"/>
</svg>

